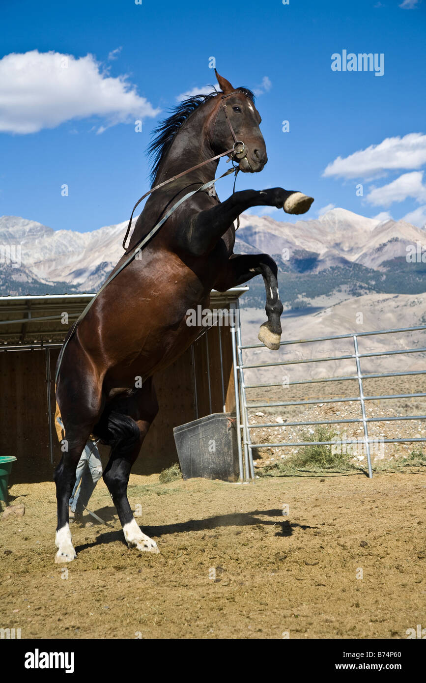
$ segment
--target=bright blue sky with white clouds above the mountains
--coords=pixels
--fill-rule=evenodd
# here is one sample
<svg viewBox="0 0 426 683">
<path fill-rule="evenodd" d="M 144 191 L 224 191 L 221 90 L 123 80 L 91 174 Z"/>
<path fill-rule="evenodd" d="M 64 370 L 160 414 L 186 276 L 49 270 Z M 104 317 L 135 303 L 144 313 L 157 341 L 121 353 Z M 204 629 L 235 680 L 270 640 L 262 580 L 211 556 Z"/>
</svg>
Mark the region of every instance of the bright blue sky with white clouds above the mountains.
<svg viewBox="0 0 426 683">
<path fill-rule="evenodd" d="M 0 17 L 0 214 L 80 232 L 125 221 L 150 186 L 152 128 L 214 83 L 215 57 L 234 86 L 261 92 L 269 162 L 238 189 L 303 191 L 307 218 L 340 206 L 426 222 L 425 0 L 22 0 Z M 384 74 L 333 71 L 343 50 L 384 54 Z M 219 196 L 230 191 L 221 181 Z"/>
</svg>

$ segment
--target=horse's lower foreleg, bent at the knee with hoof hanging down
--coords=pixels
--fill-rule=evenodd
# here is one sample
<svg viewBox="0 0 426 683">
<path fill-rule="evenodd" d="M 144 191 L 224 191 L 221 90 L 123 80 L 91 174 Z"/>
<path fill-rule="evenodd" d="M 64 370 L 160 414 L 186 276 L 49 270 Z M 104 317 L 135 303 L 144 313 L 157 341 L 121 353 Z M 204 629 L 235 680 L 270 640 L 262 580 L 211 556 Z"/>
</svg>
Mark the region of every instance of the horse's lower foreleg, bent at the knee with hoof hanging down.
<svg viewBox="0 0 426 683">
<path fill-rule="evenodd" d="M 268 320 L 261 325 L 258 337 L 265 346 L 273 350 L 279 348 L 282 332 L 280 318 L 283 304 L 279 298 L 277 272 L 276 263 L 268 254 L 233 254 L 227 261 L 226 267 L 218 273 L 214 283 L 216 290 L 225 292 L 231 287 L 251 280 L 255 275 L 261 275 L 264 278 L 265 310 Z"/>
</svg>

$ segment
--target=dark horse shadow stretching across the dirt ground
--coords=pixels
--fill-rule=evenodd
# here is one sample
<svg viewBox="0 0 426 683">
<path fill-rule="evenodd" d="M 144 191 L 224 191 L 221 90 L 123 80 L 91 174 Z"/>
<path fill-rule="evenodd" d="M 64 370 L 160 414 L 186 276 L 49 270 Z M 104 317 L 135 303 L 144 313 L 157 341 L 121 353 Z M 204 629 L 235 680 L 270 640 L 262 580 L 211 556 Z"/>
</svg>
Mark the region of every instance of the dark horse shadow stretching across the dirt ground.
<svg viewBox="0 0 426 683">
<path fill-rule="evenodd" d="M 102 510 L 96 510 L 96 514 L 99 514 L 99 516 L 104 519 L 113 519 L 114 512 L 115 508 L 113 507 L 103 507 Z M 262 517 L 276 517 L 278 519 L 263 519 Z M 138 518 L 137 522 L 139 524 Z M 151 538 L 160 538 L 173 533 L 188 533 L 190 531 L 215 531 L 219 527 L 248 527 L 253 525 L 256 525 L 260 528 L 262 525 L 276 527 L 275 535 L 281 537 L 291 536 L 293 534 L 293 530 L 296 528 L 302 529 L 303 531 L 305 529 L 316 528 L 310 527 L 309 525 L 298 524 L 297 522 L 289 522 L 289 520 L 283 520 L 282 510 L 254 510 L 253 512 L 236 512 L 233 514 L 208 517 L 206 519 L 190 519 L 186 522 L 174 522 L 173 524 L 157 526 L 143 525 L 143 527 L 141 525 L 140 526 L 143 528 L 143 532 L 149 535 Z M 126 545 L 122 529 L 119 531 L 106 531 L 105 533 L 100 533 L 96 538 L 96 541 L 78 546 L 76 547 L 76 550 L 85 550 L 86 548 L 92 548 L 100 543 L 114 543 L 116 541 L 121 541 L 124 545 Z"/>
</svg>

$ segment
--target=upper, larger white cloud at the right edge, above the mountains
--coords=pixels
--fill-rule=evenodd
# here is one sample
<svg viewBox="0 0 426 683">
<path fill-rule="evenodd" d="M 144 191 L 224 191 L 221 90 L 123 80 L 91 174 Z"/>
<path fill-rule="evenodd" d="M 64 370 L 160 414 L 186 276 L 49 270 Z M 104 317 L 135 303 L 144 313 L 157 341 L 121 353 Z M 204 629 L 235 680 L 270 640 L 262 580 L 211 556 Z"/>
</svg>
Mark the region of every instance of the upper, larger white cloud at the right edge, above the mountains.
<svg viewBox="0 0 426 683">
<path fill-rule="evenodd" d="M 386 171 L 418 169 L 426 163 L 426 135 L 408 133 L 404 137 L 387 137 L 379 145 L 370 145 L 350 156 L 338 156 L 323 171 L 323 177 L 372 178 Z"/>
</svg>

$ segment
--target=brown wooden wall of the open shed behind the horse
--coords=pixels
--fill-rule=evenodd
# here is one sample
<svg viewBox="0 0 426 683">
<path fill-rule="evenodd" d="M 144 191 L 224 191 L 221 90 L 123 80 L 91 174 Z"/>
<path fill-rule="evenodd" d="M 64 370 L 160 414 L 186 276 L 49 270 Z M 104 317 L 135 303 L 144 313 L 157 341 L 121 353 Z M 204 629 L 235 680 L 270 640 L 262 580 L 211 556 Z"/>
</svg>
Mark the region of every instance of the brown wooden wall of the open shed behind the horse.
<svg viewBox="0 0 426 683">
<path fill-rule="evenodd" d="M 154 378 L 160 410 L 148 432 L 141 455 L 133 467 L 139 474 L 160 472 L 177 462 L 173 427 L 196 419 L 194 383 L 197 387 L 198 417 L 221 413 L 223 385 L 226 410 L 235 410 L 231 331 L 212 327 L 173 365 Z M 208 345 L 208 356 L 207 356 Z M 51 478 L 49 460 L 48 402 L 45 350 L 0 353 L 0 455 L 14 455 L 11 482 L 44 481 Z M 51 348 L 51 406 L 55 414 L 55 365 L 59 349 Z M 194 361 L 194 363 L 193 363 Z M 195 367 L 194 367 L 195 365 Z M 208 390 L 210 370 L 210 396 Z M 194 372 L 195 371 L 195 372 Z M 61 458 L 53 428 L 54 466 Z M 102 449 L 107 458 L 109 449 Z"/>
</svg>

